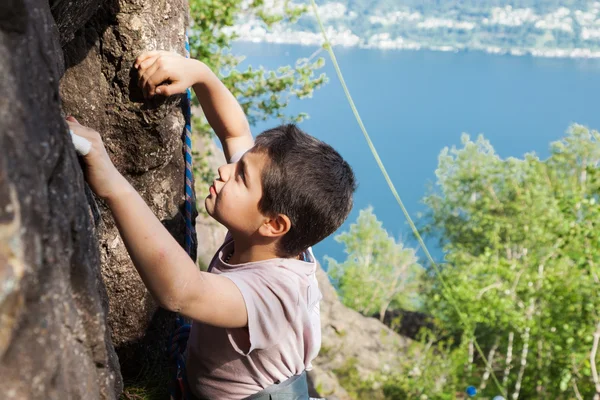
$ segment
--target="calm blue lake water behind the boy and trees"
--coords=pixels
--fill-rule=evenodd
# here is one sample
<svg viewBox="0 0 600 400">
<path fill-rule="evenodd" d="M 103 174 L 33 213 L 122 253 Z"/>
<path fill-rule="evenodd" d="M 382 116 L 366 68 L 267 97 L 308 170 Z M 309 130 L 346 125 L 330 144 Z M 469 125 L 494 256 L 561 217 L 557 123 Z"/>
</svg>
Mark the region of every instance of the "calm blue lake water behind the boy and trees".
<svg viewBox="0 0 600 400">
<path fill-rule="evenodd" d="M 266 43 L 236 43 L 244 65 L 293 65 L 316 48 Z M 409 213 L 424 211 L 421 199 L 435 183 L 437 157 L 460 145 L 463 132 L 483 134 L 501 157 L 535 152 L 544 158 L 549 144 L 577 122 L 600 129 L 600 60 L 542 59 L 484 53 L 382 51 L 336 48 L 358 110 Z M 300 127 L 331 144 L 352 165 L 359 181 L 355 206 L 371 205 L 394 237 L 416 247 L 396 200 L 379 172 L 346 101 L 327 54 L 323 71 L 330 82 L 310 99 L 292 101 L 289 113 L 307 112 Z M 279 124 L 268 121 L 258 134 Z M 334 236 L 334 235 L 333 235 Z M 333 236 L 315 246 L 322 260 L 339 261 L 343 247 Z M 440 259 L 441 251 L 430 250 Z M 418 253 L 423 256 L 422 252 Z M 326 267 L 326 265 L 324 265 Z"/>
</svg>

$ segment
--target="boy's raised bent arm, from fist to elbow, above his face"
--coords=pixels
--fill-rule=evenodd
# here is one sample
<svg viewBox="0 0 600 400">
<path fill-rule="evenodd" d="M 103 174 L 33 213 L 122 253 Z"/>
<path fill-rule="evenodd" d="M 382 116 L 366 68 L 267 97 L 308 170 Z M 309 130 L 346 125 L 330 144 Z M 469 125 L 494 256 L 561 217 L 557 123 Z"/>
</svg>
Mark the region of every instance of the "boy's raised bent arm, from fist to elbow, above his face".
<svg viewBox="0 0 600 400">
<path fill-rule="evenodd" d="M 171 96 L 192 86 L 210 126 L 223 145 L 225 157 L 254 144 L 244 110 L 233 94 L 204 63 L 176 53 L 150 51 L 140 55 L 135 66 L 144 95 Z"/>
</svg>

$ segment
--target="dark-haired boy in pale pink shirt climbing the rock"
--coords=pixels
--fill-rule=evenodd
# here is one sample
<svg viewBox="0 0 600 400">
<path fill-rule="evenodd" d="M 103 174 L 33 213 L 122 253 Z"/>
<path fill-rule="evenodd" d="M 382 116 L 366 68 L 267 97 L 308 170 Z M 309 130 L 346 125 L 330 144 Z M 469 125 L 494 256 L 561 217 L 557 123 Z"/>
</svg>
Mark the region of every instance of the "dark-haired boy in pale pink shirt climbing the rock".
<svg viewBox="0 0 600 400">
<path fill-rule="evenodd" d="M 75 140 L 91 142 L 86 179 L 110 207 L 144 284 L 162 307 L 194 321 L 189 390 L 200 399 L 308 399 L 304 371 L 321 345 L 310 248 L 348 216 L 352 169 L 293 125 L 254 141 L 234 96 L 200 61 L 152 51 L 135 68 L 146 97 L 193 87 L 229 160 L 205 199 L 229 233 L 202 272 L 113 166 L 100 135 L 67 118 Z"/>
</svg>

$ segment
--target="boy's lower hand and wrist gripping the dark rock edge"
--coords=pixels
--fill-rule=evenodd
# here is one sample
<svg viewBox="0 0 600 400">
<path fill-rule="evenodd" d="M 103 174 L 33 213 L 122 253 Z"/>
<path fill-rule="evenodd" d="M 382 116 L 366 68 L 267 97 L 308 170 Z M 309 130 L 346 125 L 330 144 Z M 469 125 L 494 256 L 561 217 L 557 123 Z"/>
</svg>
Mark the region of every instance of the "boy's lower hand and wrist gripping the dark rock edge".
<svg viewBox="0 0 600 400">
<path fill-rule="evenodd" d="M 127 180 L 110 161 L 100 134 L 81 125 L 73 117 L 67 117 L 67 124 L 73 135 L 78 136 L 74 141 L 77 140 L 78 144 L 86 144 L 85 141 L 90 143 L 85 146 L 84 151 L 81 146 L 76 146 L 76 150 L 83 157 L 85 178 L 94 193 L 104 200 L 110 200 L 130 188 Z"/>
</svg>

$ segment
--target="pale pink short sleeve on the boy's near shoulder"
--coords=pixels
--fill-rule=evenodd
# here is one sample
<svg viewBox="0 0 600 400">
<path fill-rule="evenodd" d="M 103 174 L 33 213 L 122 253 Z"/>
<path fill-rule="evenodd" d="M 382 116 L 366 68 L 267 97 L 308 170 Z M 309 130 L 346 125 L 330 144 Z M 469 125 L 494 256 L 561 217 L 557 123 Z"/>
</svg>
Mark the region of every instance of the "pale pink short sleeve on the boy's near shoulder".
<svg viewBox="0 0 600 400">
<path fill-rule="evenodd" d="M 289 334 L 300 314 L 297 277 L 277 267 L 224 273 L 239 288 L 248 313 L 248 328 L 228 329 L 233 348 L 242 355 L 268 349 Z"/>
</svg>

